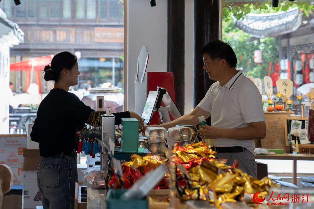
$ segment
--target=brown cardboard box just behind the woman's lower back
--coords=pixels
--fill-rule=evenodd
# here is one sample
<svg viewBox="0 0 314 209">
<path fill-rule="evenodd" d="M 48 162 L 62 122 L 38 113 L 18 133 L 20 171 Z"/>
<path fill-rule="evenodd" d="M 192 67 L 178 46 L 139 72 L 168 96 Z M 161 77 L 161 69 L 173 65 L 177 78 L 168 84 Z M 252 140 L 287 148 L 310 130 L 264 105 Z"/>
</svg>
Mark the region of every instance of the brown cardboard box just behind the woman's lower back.
<svg viewBox="0 0 314 209">
<path fill-rule="evenodd" d="M 24 149 L 23 157 L 23 170 L 38 170 L 39 164 L 42 159 L 39 154 L 39 149 Z"/>
</svg>

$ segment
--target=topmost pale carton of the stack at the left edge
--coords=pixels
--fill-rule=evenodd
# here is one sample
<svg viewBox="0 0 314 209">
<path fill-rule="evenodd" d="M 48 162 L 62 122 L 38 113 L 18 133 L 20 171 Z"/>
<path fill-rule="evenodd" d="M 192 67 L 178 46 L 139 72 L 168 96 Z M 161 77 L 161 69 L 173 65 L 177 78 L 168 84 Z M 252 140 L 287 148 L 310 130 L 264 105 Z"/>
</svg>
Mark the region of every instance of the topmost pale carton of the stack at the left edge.
<svg viewBox="0 0 314 209">
<path fill-rule="evenodd" d="M 12 135 L 12 136 L 10 136 Z M 10 134 L 5 137 L 0 137 L 0 149 L 1 148 L 21 148 L 27 147 L 27 137 L 22 134 Z"/>
</svg>

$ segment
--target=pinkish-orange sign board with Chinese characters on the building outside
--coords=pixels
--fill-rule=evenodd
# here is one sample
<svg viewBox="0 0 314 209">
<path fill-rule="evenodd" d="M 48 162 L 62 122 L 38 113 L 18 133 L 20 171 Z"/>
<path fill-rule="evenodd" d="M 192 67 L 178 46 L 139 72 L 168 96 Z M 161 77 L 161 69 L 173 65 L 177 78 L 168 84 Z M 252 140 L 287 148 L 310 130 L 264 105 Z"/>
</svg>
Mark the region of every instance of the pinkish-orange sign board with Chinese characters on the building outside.
<svg viewBox="0 0 314 209">
<path fill-rule="evenodd" d="M 123 43 L 124 28 L 94 28 L 94 42 L 97 43 Z"/>
</svg>

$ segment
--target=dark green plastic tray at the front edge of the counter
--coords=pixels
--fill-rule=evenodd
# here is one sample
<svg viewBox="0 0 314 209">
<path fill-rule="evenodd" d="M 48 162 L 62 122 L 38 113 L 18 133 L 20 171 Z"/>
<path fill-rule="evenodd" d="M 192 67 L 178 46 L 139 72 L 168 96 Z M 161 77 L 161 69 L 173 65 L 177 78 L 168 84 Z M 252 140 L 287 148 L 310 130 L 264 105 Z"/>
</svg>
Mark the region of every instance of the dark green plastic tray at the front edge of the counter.
<svg viewBox="0 0 314 209">
<path fill-rule="evenodd" d="M 109 189 L 107 194 L 107 209 L 148 209 L 147 199 L 142 200 L 121 200 L 120 196 L 127 190 Z"/>
</svg>

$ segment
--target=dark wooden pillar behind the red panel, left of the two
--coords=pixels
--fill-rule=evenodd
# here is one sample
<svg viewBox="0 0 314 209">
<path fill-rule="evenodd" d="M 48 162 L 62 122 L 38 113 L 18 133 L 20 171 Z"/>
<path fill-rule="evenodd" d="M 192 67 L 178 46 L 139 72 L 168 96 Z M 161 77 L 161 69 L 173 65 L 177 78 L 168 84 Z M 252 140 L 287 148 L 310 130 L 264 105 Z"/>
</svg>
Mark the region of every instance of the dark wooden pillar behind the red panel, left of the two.
<svg viewBox="0 0 314 209">
<path fill-rule="evenodd" d="M 176 106 L 184 114 L 185 0 L 168 0 L 167 72 L 173 72 Z"/>
</svg>

